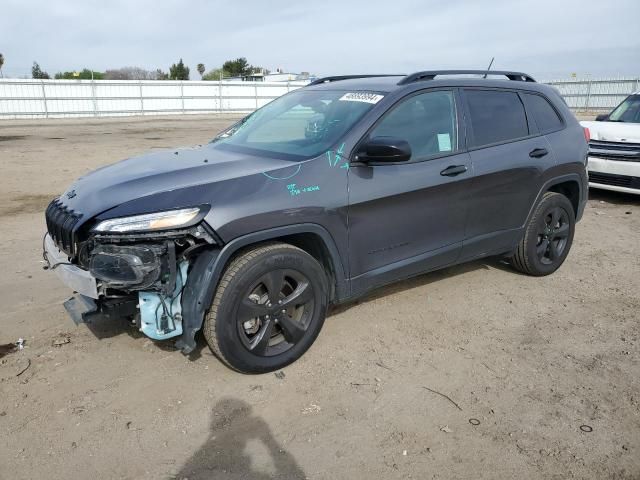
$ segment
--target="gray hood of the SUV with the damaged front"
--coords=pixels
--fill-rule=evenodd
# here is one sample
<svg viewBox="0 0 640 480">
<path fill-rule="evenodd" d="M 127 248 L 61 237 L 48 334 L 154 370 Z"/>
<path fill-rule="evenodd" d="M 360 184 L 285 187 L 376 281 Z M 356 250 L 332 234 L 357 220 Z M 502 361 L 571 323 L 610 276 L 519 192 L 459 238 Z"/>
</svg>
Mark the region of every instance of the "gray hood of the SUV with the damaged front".
<svg viewBox="0 0 640 480">
<path fill-rule="evenodd" d="M 160 197 L 175 202 L 169 208 L 180 208 L 210 202 L 215 194 L 213 184 L 217 182 L 291 165 L 290 161 L 229 152 L 212 144 L 166 150 L 99 168 L 79 178 L 60 199 L 67 207 L 81 213 L 85 221 L 119 205 L 145 198 L 147 211 L 163 207 L 163 202 L 154 205 L 155 199 Z M 163 193 L 166 195 L 158 195 Z"/>
</svg>

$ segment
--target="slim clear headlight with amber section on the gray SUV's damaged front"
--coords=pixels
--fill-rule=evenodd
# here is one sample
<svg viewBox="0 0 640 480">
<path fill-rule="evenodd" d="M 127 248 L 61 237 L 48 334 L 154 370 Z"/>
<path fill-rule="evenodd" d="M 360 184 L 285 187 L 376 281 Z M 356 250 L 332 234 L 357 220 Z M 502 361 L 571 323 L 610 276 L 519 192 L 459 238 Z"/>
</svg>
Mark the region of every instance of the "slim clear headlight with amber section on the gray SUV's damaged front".
<svg viewBox="0 0 640 480">
<path fill-rule="evenodd" d="M 166 212 L 133 215 L 131 217 L 112 218 L 103 220 L 94 227 L 96 232 L 147 232 L 152 230 L 166 230 L 188 226 L 200 214 L 200 208 L 183 208 Z"/>
</svg>

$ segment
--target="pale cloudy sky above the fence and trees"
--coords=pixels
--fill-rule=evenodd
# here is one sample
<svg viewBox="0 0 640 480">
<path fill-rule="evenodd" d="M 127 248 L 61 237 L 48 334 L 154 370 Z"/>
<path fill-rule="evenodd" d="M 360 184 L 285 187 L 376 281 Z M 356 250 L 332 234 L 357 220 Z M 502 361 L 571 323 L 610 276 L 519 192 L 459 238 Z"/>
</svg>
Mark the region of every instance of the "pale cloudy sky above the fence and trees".
<svg viewBox="0 0 640 480">
<path fill-rule="evenodd" d="M 318 75 L 444 68 L 640 75 L 639 0 L 0 0 L 5 76 L 183 58 Z"/>
</svg>

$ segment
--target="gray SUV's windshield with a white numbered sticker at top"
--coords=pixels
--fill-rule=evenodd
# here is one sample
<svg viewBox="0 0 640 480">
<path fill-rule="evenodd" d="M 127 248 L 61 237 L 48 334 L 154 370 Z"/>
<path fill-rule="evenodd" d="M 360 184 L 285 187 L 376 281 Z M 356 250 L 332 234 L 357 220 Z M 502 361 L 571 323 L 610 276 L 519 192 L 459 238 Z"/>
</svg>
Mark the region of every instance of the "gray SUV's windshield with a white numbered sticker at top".
<svg viewBox="0 0 640 480">
<path fill-rule="evenodd" d="M 329 150 L 382 97 L 371 92 L 301 88 L 256 110 L 212 143 L 285 160 L 315 157 Z"/>
</svg>

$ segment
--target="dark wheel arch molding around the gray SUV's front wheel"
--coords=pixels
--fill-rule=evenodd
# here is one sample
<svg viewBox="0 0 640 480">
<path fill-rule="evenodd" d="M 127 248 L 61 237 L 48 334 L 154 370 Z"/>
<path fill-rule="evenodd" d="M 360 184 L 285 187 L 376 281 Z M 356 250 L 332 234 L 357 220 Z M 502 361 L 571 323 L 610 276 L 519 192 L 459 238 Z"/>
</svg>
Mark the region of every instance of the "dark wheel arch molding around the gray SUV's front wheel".
<svg viewBox="0 0 640 480">
<path fill-rule="evenodd" d="M 202 328 L 205 312 L 213 301 L 225 267 L 241 249 L 267 241 L 289 243 L 318 260 L 329 276 L 330 302 L 348 296 L 349 284 L 340 253 L 331 234 L 321 225 L 288 225 L 243 235 L 221 249 L 204 250 L 194 261 L 182 297 L 183 334 L 176 342 L 183 353 L 195 349 L 195 334 Z"/>
</svg>

